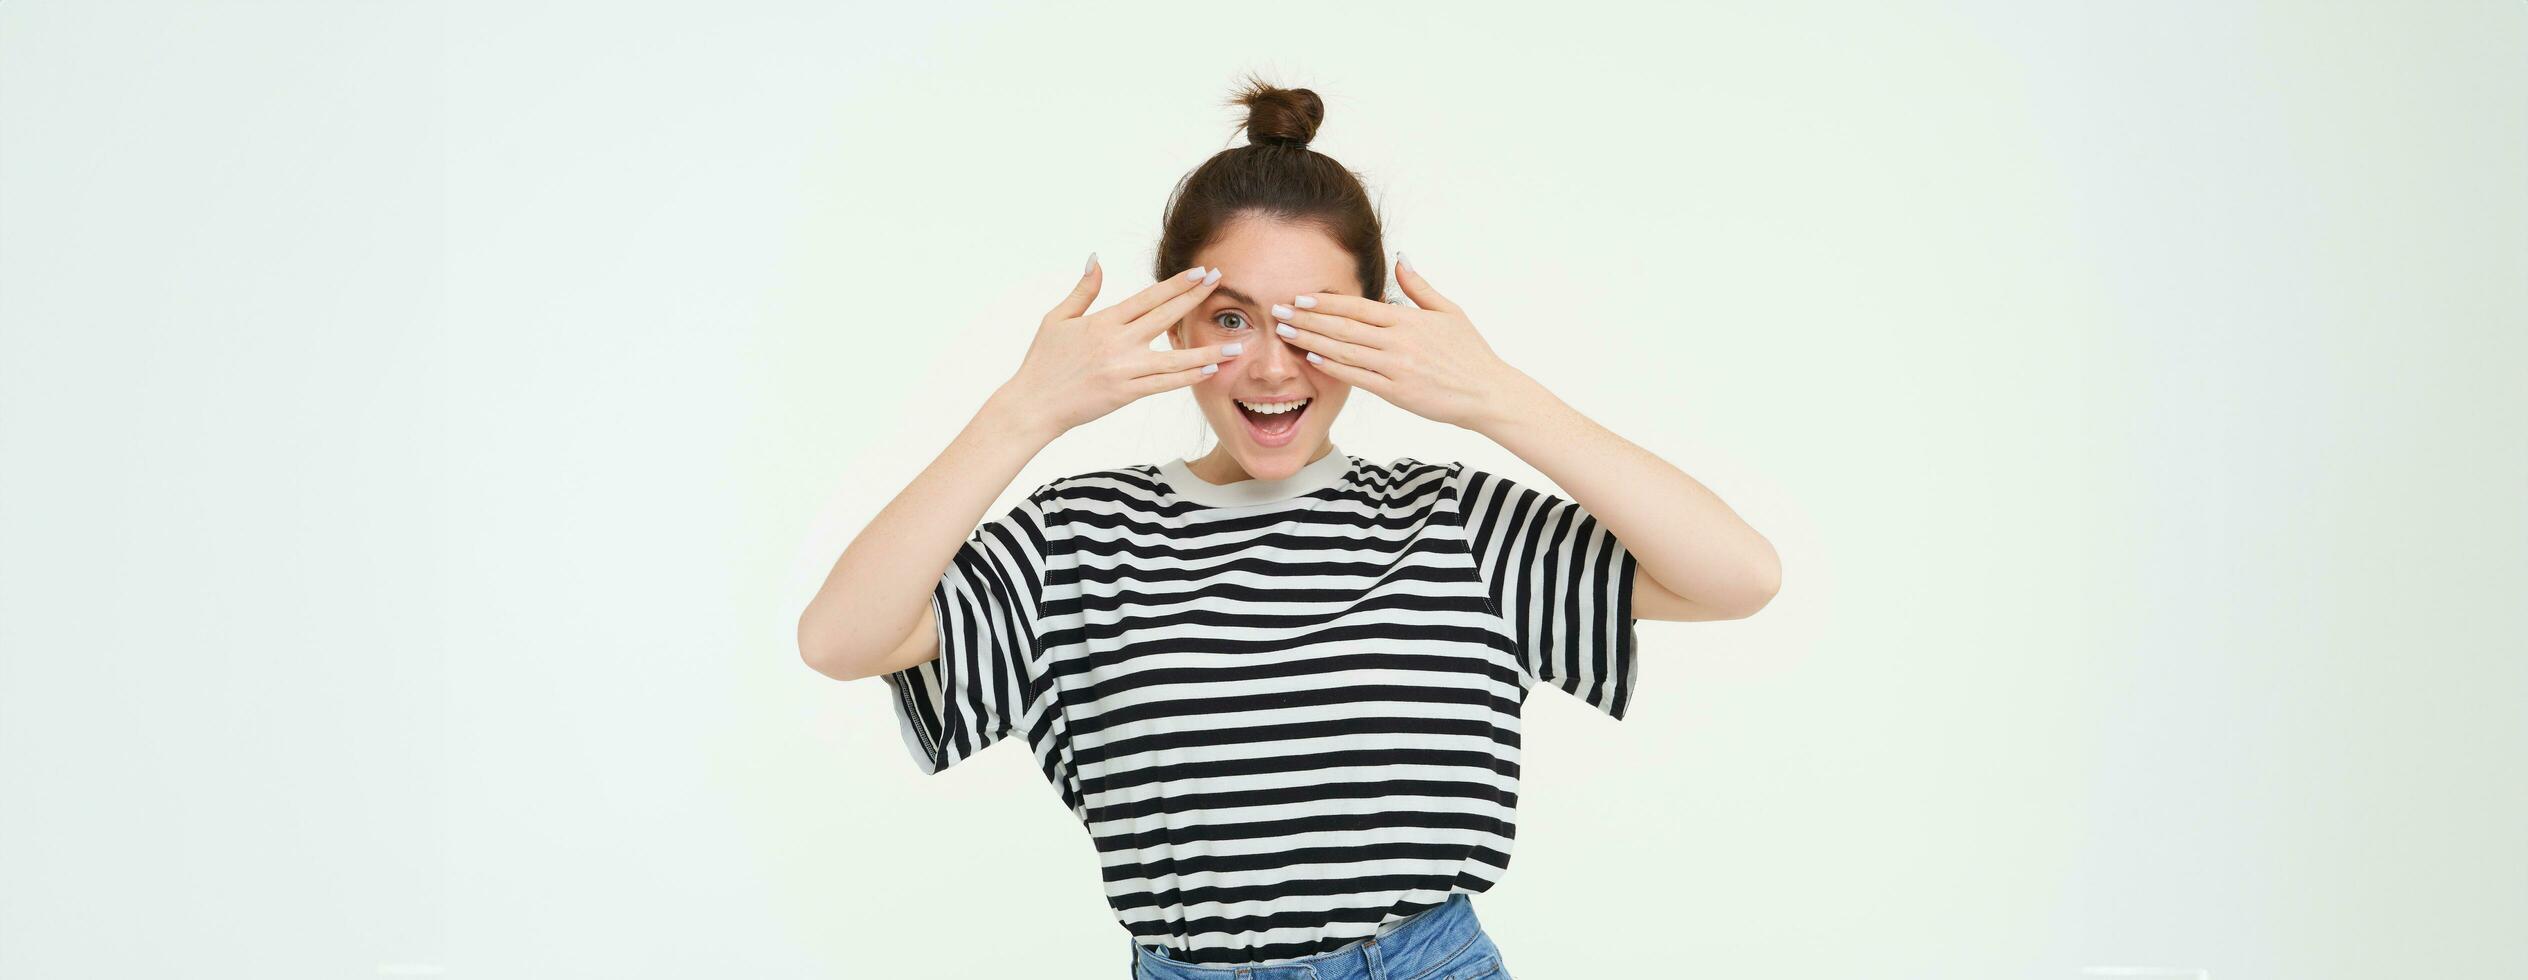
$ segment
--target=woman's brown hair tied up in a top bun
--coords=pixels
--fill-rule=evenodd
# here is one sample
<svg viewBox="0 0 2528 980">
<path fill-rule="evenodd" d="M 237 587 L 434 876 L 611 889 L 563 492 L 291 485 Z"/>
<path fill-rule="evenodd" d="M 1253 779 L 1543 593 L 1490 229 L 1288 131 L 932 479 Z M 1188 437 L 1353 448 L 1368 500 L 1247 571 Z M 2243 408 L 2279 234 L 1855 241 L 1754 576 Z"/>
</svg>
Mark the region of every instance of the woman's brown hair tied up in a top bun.
<svg viewBox="0 0 2528 980">
<path fill-rule="evenodd" d="M 1307 149 L 1325 121 L 1325 99 L 1246 76 L 1229 104 L 1246 106 L 1246 146 L 1211 154 L 1176 182 L 1158 222 L 1158 265 L 1150 275 L 1168 278 L 1193 268 L 1193 253 L 1211 245 L 1221 227 L 1254 215 L 1322 227 L 1352 253 L 1360 296 L 1385 301 L 1388 250 L 1370 192 L 1335 157 Z"/>
</svg>

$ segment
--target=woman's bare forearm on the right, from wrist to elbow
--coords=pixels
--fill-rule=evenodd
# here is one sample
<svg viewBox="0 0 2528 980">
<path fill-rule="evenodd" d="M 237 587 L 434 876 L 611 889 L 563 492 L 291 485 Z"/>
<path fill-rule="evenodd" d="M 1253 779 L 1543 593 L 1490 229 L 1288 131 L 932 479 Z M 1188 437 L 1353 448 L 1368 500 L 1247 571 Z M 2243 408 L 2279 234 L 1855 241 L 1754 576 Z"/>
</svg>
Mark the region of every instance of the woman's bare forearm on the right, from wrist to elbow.
<svg viewBox="0 0 2528 980">
<path fill-rule="evenodd" d="M 1699 606 L 1749 616 L 1782 589 L 1782 558 L 1701 480 L 1527 379 L 1469 429 L 1527 460 L 1595 515 L 1641 573 Z"/>
</svg>

